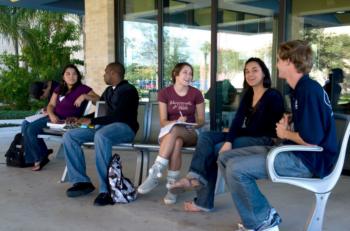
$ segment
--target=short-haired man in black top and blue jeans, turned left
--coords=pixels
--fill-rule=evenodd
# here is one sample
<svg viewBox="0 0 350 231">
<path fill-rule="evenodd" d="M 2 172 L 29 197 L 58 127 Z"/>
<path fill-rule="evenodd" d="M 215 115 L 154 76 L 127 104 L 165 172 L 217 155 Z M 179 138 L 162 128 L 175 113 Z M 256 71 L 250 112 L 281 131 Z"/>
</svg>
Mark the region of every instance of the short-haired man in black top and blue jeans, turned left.
<svg viewBox="0 0 350 231">
<path fill-rule="evenodd" d="M 110 86 L 100 98 L 106 102 L 106 115 L 80 118 L 77 122 L 87 125 L 88 128 L 72 129 L 63 136 L 69 181 L 73 184 L 66 192 L 68 197 L 82 196 L 95 189 L 86 175 L 85 158 L 81 149 L 83 143 L 94 141 L 96 168 L 100 181 L 100 193 L 94 205 L 113 204 L 107 187 L 107 168 L 112 157 L 112 146 L 132 142 L 139 128 L 138 92 L 133 85 L 124 80 L 124 73 L 123 65 L 118 62 L 107 65 L 104 80 Z"/>
</svg>

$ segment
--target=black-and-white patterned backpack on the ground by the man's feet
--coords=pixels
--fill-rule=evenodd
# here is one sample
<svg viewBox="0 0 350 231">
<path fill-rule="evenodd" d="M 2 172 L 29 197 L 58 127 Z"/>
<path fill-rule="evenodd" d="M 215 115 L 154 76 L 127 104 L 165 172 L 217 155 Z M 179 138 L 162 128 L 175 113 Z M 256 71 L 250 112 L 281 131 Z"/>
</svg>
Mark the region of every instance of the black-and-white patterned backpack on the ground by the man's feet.
<svg viewBox="0 0 350 231">
<path fill-rule="evenodd" d="M 109 193 L 115 203 L 129 203 L 136 200 L 136 189 L 131 181 L 123 176 L 120 156 L 114 154 L 108 167 Z"/>
</svg>

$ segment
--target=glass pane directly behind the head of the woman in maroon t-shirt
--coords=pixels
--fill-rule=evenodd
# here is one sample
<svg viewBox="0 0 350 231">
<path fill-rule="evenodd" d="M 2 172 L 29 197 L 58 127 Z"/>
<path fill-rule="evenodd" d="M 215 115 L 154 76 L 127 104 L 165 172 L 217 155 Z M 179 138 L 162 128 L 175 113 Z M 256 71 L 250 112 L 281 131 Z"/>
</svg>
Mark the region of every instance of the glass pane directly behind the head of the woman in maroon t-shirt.
<svg viewBox="0 0 350 231">
<path fill-rule="evenodd" d="M 211 1 L 164 1 L 164 86 L 178 62 L 194 68 L 193 86 L 202 91 L 210 83 Z"/>
</svg>

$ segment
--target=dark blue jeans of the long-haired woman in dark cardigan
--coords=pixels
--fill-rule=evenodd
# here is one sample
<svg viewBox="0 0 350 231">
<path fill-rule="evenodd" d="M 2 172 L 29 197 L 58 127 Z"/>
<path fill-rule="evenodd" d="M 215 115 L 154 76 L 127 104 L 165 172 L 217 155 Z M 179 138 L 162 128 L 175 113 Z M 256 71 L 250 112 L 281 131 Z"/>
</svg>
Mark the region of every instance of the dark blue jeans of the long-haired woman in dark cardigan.
<svg viewBox="0 0 350 231">
<path fill-rule="evenodd" d="M 192 157 L 187 177 L 196 178 L 202 184 L 197 190 L 197 197 L 194 203 L 204 210 L 211 210 L 214 207 L 215 184 L 217 178 L 217 158 L 227 133 L 203 132 L 200 134 L 196 151 Z M 272 145 L 269 137 L 237 137 L 232 143 L 232 148 L 240 148 L 251 145 Z"/>
</svg>

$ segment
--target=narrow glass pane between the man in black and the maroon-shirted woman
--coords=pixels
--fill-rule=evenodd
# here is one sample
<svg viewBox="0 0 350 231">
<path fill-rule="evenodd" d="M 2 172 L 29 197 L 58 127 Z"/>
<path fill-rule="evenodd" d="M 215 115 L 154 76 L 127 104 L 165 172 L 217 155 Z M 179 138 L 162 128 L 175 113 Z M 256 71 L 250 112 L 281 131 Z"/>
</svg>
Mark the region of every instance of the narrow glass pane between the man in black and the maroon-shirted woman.
<svg viewBox="0 0 350 231">
<path fill-rule="evenodd" d="M 134 84 L 141 100 L 157 89 L 158 25 L 155 0 L 124 1 L 123 39 L 126 78 Z"/>
</svg>

